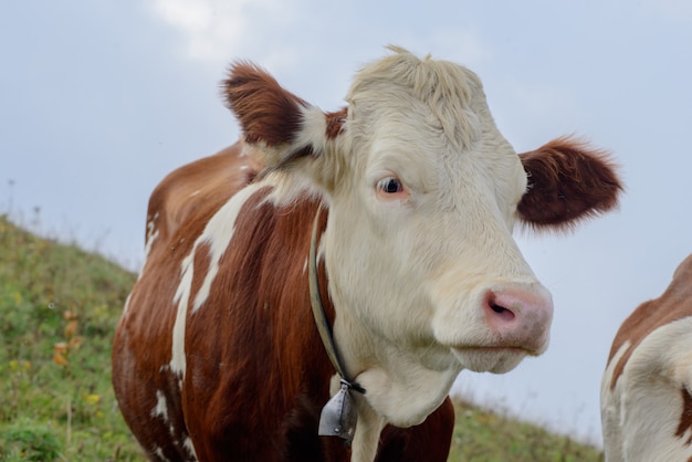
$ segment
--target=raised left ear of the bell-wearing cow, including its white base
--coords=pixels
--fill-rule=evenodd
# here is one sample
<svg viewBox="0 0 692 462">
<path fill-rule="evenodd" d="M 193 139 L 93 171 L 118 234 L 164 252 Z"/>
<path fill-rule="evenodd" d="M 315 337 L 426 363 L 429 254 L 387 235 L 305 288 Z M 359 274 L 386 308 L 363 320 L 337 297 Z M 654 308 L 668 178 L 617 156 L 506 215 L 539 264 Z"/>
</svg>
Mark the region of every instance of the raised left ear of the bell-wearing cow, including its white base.
<svg viewBox="0 0 692 462">
<path fill-rule="evenodd" d="M 323 113 L 254 64 L 234 64 L 222 86 L 245 143 L 261 153 L 258 160 L 270 169 L 319 158 L 342 130 L 345 111 Z"/>
</svg>

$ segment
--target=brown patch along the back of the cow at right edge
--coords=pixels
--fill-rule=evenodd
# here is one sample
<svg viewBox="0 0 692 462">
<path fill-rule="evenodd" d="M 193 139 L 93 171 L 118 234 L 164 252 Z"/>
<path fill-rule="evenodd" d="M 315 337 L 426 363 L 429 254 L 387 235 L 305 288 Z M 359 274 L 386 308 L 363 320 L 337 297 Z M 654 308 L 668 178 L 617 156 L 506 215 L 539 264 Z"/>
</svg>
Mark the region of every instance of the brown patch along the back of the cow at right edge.
<svg viewBox="0 0 692 462">
<path fill-rule="evenodd" d="M 629 347 L 614 368 L 610 389 L 615 388 L 630 356 L 649 334 L 688 316 L 692 316 L 692 255 L 680 263 L 672 282 L 660 297 L 639 305 L 620 326 L 608 363 L 626 342 L 629 342 Z"/>
</svg>

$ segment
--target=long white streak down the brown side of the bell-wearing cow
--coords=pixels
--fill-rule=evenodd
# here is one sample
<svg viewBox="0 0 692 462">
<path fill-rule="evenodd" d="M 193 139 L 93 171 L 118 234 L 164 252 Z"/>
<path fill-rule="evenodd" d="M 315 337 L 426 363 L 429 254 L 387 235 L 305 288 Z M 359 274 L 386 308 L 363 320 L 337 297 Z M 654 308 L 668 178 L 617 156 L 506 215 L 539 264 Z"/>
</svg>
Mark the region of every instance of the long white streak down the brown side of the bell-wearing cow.
<svg viewBox="0 0 692 462">
<path fill-rule="evenodd" d="M 209 245 L 209 269 L 205 275 L 199 292 L 195 297 L 192 314 L 207 301 L 211 291 L 211 284 L 219 271 L 219 261 L 233 237 L 235 218 L 245 201 L 265 185 L 262 182 L 250 185 L 234 195 L 217 213 L 209 220 L 205 231 L 195 241 L 192 251 L 180 264 L 180 283 L 174 296 L 174 303 L 178 305 L 176 322 L 172 330 L 172 345 L 170 370 L 185 378 L 187 361 L 185 356 L 185 332 L 189 308 L 190 293 L 192 291 L 192 276 L 195 273 L 195 253 L 201 243 Z"/>
</svg>

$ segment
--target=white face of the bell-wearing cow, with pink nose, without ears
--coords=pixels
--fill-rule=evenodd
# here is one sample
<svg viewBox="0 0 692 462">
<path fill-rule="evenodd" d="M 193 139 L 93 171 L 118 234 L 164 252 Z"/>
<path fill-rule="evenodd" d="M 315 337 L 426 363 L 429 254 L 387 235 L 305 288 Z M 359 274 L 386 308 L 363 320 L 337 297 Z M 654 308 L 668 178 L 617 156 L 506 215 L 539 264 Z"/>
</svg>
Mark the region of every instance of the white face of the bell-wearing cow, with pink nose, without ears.
<svg viewBox="0 0 692 462">
<path fill-rule="evenodd" d="M 471 72 L 449 65 L 452 87 L 417 94 L 368 71 L 349 95 L 328 191 L 325 258 L 349 368 L 373 361 L 397 376 L 411 361 L 442 382 L 462 368 L 507 371 L 545 349 L 552 319 L 512 239 L 526 190 L 520 158 Z M 460 96 L 424 101 L 428 90 Z"/>
</svg>

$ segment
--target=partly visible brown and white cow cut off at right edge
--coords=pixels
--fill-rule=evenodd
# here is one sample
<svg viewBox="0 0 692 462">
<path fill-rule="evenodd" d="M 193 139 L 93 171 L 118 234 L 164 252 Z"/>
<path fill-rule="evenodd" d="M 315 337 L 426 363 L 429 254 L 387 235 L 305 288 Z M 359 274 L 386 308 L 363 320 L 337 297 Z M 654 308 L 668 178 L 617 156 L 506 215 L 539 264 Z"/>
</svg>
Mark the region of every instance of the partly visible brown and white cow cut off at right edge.
<svg viewBox="0 0 692 462">
<path fill-rule="evenodd" d="M 608 462 L 692 461 L 692 255 L 620 326 L 600 396 Z"/>
</svg>

